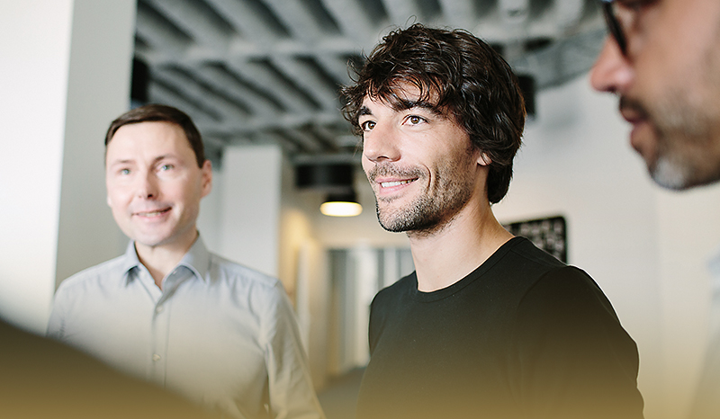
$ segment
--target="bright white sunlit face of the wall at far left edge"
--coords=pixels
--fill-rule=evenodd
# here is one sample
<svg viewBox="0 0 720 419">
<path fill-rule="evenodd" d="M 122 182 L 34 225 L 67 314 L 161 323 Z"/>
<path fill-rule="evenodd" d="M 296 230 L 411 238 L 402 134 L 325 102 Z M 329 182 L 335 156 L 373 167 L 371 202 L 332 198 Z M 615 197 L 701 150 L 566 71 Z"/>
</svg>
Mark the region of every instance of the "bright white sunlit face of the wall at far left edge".
<svg viewBox="0 0 720 419">
<path fill-rule="evenodd" d="M 0 5 L 0 316 L 36 330 L 54 291 L 72 4 Z"/>
</svg>

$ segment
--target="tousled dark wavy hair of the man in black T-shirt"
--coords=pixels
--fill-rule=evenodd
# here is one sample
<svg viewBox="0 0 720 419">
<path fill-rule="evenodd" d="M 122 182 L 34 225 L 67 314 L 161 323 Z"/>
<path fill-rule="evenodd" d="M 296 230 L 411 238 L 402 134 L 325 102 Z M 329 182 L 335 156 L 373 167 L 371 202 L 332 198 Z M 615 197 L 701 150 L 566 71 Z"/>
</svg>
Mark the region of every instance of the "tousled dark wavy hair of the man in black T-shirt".
<svg viewBox="0 0 720 419">
<path fill-rule="evenodd" d="M 419 89 L 420 100 L 455 119 L 474 147 L 491 159 L 488 200 L 502 200 L 512 178 L 512 161 L 525 127 L 525 102 L 518 78 L 488 44 L 463 30 L 420 23 L 392 31 L 356 69 L 355 84 L 342 89 L 343 114 L 355 129 L 365 96 L 400 103 L 403 84 Z"/>
</svg>

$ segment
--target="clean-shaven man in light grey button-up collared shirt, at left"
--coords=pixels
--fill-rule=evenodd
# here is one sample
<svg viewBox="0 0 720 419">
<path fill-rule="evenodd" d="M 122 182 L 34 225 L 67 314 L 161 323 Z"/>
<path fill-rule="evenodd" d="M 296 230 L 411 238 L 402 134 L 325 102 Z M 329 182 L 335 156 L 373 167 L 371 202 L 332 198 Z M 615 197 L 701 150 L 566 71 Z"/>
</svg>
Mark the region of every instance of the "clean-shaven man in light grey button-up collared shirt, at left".
<svg viewBox="0 0 720 419">
<path fill-rule="evenodd" d="M 127 252 L 64 281 L 49 335 L 231 417 L 319 418 L 280 281 L 211 254 L 195 221 L 211 163 L 182 111 L 143 106 L 105 138 Z"/>
</svg>

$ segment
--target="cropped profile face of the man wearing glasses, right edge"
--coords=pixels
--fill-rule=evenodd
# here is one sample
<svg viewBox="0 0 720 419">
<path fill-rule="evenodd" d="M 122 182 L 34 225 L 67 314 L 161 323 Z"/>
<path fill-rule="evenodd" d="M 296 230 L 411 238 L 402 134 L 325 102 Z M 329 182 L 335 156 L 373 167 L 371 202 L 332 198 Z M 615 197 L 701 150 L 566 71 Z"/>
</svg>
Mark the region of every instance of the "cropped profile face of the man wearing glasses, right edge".
<svg viewBox="0 0 720 419">
<path fill-rule="evenodd" d="M 720 1 L 618 4 L 627 55 L 606 40 L 591 73 L 620 97 L 630 142 L 655 182 L 685 189 L 720 179 Z"/>
</svg>

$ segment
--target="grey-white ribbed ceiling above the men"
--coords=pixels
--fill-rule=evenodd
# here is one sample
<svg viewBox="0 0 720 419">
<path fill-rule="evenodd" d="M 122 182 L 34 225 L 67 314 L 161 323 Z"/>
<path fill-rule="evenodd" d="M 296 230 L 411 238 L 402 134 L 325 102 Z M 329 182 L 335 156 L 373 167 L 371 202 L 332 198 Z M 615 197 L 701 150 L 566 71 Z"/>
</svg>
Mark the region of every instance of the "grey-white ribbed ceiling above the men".
<svg viewBox="0 0 720 419">
<path fill-rule="evenodd" d="M 274 142 L 291 156 L 347 155 L 348 62 L 412 22 L 464 28 L 542 89 L 590 68 L 605 35 L 596 0 L 139 0 L 135 56 L 149 101 L 174 105 L 210 154 Z"/>
</svg>

